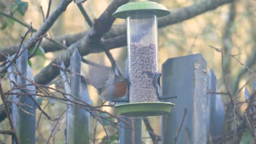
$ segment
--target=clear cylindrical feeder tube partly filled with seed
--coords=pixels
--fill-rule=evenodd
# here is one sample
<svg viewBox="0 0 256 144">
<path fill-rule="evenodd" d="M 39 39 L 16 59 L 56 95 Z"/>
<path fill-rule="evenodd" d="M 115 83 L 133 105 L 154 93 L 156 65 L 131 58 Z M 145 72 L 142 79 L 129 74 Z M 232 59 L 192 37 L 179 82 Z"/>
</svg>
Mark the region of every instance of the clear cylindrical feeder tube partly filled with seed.
<svg viewBox="0 0 256 144">
<path fill-rule="evenodd" d="M 156 102 L 154 74 L 158 71 L 158 26 L 154 11 L 127 14 L 130 103 Z"/>
</svg>

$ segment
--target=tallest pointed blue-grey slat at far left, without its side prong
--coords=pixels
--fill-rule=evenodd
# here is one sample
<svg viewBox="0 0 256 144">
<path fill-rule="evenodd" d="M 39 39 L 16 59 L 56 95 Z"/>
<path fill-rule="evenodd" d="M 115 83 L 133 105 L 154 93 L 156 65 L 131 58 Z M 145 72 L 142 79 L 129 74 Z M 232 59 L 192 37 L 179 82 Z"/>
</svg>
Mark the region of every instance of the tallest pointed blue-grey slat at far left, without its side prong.
<svg viewBox="0 0 256 144">
<path fill-rule="evenodd" d="M 21 47 L 21 51 L 25 49 L 24 45 Z M 22 86 L 26 85 L 28 82 L 24 77 L 33 81 L 33 74 L 30 66 L 27 64 L 28 52 L 25 50 L 18 59 L 16 59 L 16 65 L 20 72 L 20 75 L 17 75 L 17 85 Z M 32 91 L 26 91 L 26 93 L 35 93 L 33 86 L 24 87 L 31 88 Z M 21 90 L 17 91 L 18 93 L 24 93 Z M 36 143 L 36 104 L 29 95 L 22 95 L 19 97 L 20 109 L 18 110 L 18 116 L 15 122 L 17 122 L 17 133 L 20 143 Z M 12 105 L 15 105 L 14 103 Z M 21 110 L 22 109 L 22 110 Z"/>
</svg>

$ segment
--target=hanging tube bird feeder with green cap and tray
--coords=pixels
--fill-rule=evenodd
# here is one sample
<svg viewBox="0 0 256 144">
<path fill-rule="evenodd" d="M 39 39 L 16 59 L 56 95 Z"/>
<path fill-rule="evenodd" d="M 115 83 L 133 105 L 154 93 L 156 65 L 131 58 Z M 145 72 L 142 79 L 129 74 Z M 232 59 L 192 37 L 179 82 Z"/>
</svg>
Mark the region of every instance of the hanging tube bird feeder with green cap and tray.
<svg viewBox="0 0 256 144">
<path fill-rule="evenodd" d="M 130 2 L 121 5 L 113 17 L 126 19 L 129 59 L 129 103 L 116 105 L 124 116 L 157 116 L 168 113 L 174 104 L 160 102 L 160 76 L 158 72 L 157 17 L 170 14 L 156 2 Z"/>
</svg>

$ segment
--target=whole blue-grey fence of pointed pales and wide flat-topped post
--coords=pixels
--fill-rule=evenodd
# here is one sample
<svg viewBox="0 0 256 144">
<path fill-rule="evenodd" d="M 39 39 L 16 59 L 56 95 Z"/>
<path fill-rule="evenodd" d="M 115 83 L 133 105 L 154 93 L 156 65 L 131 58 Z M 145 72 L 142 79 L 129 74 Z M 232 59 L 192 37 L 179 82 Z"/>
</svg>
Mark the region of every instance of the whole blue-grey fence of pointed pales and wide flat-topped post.
<svg viewBox="0 0 256 144">
<path fill-rule="evenodd" d="M 22 50 L 21 50 L 22 51 Z M 70 77 L 66 71 L 60 70 L 66 97 L 73 101 L 85 101 L 92 104 L 86 82 L 81 79 L 81 56 L 77 50 L 71 57 Z M 217 81 L 213 70 L 207 70 L 206 61 L 200 54 L 168 59 L 162 65 L 162 94 L 177 95 L 177 99 L 168 100 L 176 106 L 171 113 L 162 116 L 162 143 L 207 143 L 213 136 L 222 134 L 224 109 L 220 95 L 207 92 L 217 92 Z M 27 64 L 27 50 L 16 61 L 16 67 L 8 68 L 10 86 L 27 85 L 27 96 L 13 95 L 12 117 L 21 143 L 36 143 L 36 93 L 35 87 L 28 85 L 33 82 L 33 74 Z M 65 65 L 61 64 L 62 68 Z M 17 71 L 19 70 L 19 71 Z M 20 73 L 18 75 L 17 73 Z M 83 75 L 83 74 L 82 74 Z M 24 93 L 15 90 L 13 93 Z M 74 95 L 75 97 L 71 97 Z M 16 104 L 21 103 L 18 107 Z M 20 109 L 21 108 L 21 109 Z M 30 114 L 26 113 L 29 112 Z M 142 118 L 122 118 L 132 123 L 120 122 L 120 143 L 142 143 Z M 179 131 L 177 133 L 177 131 Z M 178 135 L 177 135 L 178 134 Z M 66 142 L 89 143 L 90 113 L 84 109 L 66 106 Z M 13 141 L 14 143 L 14 141 Z"/>
</svg>

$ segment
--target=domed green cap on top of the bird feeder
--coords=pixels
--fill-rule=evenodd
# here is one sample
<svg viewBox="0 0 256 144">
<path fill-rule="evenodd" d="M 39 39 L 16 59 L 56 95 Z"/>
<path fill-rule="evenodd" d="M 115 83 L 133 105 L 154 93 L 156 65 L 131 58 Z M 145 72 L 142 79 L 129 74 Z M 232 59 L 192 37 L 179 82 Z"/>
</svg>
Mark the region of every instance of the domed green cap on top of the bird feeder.
<svg viewBox="0 0 256 144">
<path fill-rule="evenodd" d="M 171 13 L 171 11 L 167 10 L 165 5 L 162 5 L 156 2 L 130 2 L 130 3 L 121 5 L 121 7 L 119 7 L 112 16 L 120 19 L 126 19 L 127 12 L 140 11 L 140 10 L 155 11 L 155 14 L 157 17 L 166 16 Z"/>
</svg>

